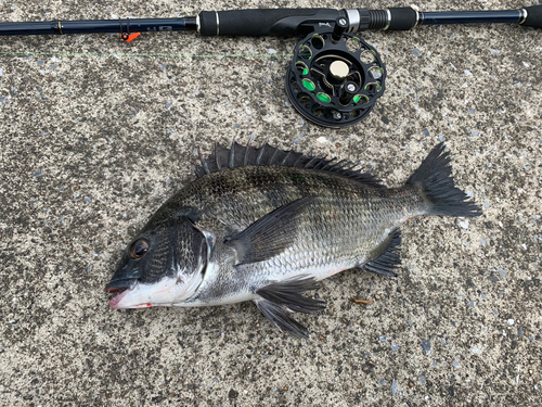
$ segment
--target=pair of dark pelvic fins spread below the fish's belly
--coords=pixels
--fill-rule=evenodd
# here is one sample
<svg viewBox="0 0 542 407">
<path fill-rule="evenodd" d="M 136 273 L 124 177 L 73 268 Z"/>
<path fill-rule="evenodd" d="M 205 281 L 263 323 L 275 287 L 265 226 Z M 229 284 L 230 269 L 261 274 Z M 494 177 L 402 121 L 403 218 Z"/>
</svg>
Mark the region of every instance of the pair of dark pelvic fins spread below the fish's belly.
<svg viewBox="0 0 542 407">
<path fill-rule="evenodd" d="M 314 278 L 302 276 L 275 282 L 256 290 L 259 297 L 254 302 L 261 314 L 273 322 L 280 331 L 286 331 L 297 338 L 308 338 L 307 328 L 287 313 L 297 310 L 311 314 L 325 308 L 323 301 L 301 295 L 308 290 L 317 289 L 314 283 Z"/>
</svg>

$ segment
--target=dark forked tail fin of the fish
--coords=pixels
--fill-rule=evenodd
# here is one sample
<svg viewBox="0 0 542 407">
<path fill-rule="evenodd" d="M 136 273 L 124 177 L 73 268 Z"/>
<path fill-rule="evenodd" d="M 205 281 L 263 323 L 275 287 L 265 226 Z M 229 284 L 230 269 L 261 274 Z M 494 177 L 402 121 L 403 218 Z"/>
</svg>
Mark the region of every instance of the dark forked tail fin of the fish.
<svg viewBox="0 0 542 407">
<path fill-rule="evenodd" d="M 474 202 L 466 202 L 467 194 L 455 188 L 450 166 L 450 153 L 439 143 L 424 160 L 406 185 L 421 188 L 433 203 L 428 215 L 465 216 L 481 215 Z"/>
</svg>

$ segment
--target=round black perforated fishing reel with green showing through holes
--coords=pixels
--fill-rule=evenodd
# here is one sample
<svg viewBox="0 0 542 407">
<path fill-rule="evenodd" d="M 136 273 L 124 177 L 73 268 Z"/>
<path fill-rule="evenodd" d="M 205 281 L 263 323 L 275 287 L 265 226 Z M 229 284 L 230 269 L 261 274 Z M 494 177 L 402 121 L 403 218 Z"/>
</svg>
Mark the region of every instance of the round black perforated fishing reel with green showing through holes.
<svg viewBox="0 0 542 407">
<path fill-rule="evenodd" d="M 353 126 L 384 93 L 380 56 L 360 37 L 345 33 L 347 27 L 339 17 L 333 33 L 317 30 L 299 41 L 286 75 L 292 104 L 319 126 Z"/>
</svg>

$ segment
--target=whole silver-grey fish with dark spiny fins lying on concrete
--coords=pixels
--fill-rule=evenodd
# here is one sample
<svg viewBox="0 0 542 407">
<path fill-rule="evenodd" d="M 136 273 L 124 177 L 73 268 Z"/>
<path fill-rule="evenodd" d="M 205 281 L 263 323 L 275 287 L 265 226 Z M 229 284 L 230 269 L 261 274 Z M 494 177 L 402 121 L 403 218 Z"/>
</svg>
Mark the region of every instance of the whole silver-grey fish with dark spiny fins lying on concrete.
<svg viewBox="0 0 542 407">
<path fill-rule="evenodd" d="M 253 301 L 279 330 L 308 338 L 292 314 L 325 309 L 306 295 L 318 281 L 348 269 L 397 277 L 406 220 L 481 214 L 454 186 L 443 143 L 397 188 L 346 160 L 267 142 L 198 155 L 195 180 L 127 245 L 105 288 L 111 308 Z"/>
</svg>

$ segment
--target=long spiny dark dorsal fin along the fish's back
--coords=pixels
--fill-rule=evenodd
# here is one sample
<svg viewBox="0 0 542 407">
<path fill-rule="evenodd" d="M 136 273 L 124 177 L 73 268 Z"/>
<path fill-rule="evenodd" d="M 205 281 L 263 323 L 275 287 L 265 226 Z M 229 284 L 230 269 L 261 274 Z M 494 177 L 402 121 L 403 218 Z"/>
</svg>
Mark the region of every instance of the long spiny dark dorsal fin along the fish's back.
<svg viewBox="0 0 542 407">
<path fill-rule="evenodd" d="M 380 180 L 370 173 L 361 173 L 354 169 L 357 164 L 346 160 L 327 160 L 322 156 L 304 155 L 295 151 L 281 150 L 264 143 L 256 149 L 250 145 L 242 145 L 233 140 L 231 148 L 222 147 L 219 142 L 215 143 L 215 154 L 204 158 L 198 149 L 201 164 L 196 164 L 195 174 L 197 178 L 206 174 L 222 171 L 229 168 L 254 166 L 254 165 L 278 165 L 283 167 L 297 167 L 319 169 L 322 171 L 334 173 L 347 178 L 356 179 L 360 182 L 375 188 L 385 188 Z"/>
</svg>

